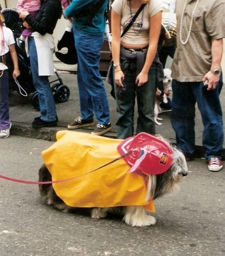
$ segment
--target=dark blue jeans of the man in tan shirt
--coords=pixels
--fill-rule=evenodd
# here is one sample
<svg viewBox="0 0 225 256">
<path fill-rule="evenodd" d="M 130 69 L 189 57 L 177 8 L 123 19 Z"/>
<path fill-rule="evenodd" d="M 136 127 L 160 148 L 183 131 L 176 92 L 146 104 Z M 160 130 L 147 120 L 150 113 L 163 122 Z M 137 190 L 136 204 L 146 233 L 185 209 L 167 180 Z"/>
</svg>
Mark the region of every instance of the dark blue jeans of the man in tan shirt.
<svg viewBox="0 0 225 256">
<path fill-rule="evenodd" d="M 195 104 L 202 116 L 204 130 L 202 145 L 205 158 L 212 156 L 222 158 L 222 109 L 218 87 L 207 91 L 202 82 L 178 82 L 173 80 L 173 104 L 171 124 L 176 133 L 178 148 L 186 154 L 195 150 Z"/>
</svg>

